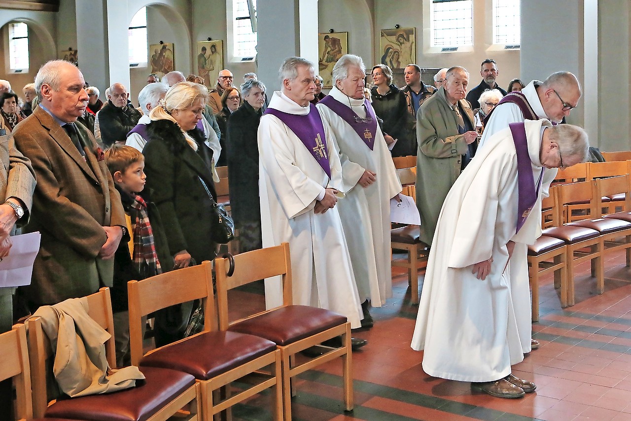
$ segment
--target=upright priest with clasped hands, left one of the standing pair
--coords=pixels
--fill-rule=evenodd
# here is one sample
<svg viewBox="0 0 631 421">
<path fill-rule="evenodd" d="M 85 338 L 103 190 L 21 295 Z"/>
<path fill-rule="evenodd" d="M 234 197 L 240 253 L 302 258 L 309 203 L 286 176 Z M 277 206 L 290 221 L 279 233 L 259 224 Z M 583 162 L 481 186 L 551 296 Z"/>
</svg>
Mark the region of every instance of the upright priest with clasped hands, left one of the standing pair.
<svg viewBox="0 0 631 421">
<path fill-rule="evenodd" d="M 293 304 L 338 312 L 359 328 L 362 306 L 336 206 L 345 191 L 338 151 L 329 124 L 310 104 L 314 66 L 290 57 L 279 73 L 281 92 L 258 130 L 262 245 L 289 242 Z M 276 278 L 266 279 L 265 293 L 268 308 L 282 304 Z M 352 343 L 357 349 L 366 341 Z"/>
</svg>

